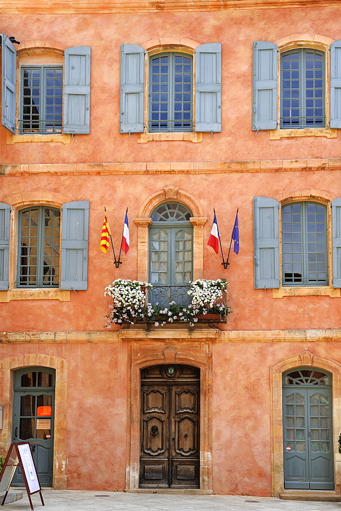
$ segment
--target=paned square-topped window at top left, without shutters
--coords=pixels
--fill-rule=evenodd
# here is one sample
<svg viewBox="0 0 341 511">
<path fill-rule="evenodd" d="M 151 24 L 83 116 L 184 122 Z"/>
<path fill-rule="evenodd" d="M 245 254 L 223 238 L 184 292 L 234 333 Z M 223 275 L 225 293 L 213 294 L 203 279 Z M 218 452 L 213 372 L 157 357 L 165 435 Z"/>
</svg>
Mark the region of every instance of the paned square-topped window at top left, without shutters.
<svg viewBox="0 0 341 511">
<path fill-rule="evenodd" d="M 62 66 L 22 66 L 19 130 L 24 133 L 61 133 Z"/>
</svg>

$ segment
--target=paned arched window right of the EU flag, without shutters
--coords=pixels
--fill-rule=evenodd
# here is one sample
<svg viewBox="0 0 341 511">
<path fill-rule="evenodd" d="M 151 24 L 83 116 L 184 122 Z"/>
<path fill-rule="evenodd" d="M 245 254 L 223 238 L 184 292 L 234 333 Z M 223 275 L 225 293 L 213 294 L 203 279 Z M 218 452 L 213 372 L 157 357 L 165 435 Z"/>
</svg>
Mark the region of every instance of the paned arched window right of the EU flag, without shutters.
<svg viewBox="0 0 341 511">
<path fill-rule="evenodd" d="M 327 207 L 293 202 L 282 207 L 282 284 L 328 285 Z"/>
</svg>

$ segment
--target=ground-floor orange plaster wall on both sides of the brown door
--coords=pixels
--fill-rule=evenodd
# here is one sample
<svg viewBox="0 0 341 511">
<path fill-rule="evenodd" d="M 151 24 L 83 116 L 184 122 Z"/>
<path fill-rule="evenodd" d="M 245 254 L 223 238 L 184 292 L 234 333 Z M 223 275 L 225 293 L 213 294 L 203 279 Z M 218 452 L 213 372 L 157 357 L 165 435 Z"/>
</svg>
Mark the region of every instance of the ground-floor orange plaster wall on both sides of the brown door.
<svg viewBox="0 0 341 511">
<path fill-rule="evenodd" d="M 39 353 L 67 361 L 65 461 L 70 490 L 124 490 L 130 427 L 127 349 L 124 342 L 2 344 L 2 359 Z M 328 360 L 339 353 L 332 341 L 213 344 L 214 493 L 270 496 L 269 366 L 305 350 Z M 6 403 L 8 397 L 0 397 Z"/>
</svg>

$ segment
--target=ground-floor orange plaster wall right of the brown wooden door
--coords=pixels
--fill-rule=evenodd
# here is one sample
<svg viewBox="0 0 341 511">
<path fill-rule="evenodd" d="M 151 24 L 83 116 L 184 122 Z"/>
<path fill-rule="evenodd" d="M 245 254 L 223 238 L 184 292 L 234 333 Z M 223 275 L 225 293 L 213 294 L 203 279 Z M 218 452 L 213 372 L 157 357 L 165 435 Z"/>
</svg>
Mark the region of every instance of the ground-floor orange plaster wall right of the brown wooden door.
<svg viewBox="0 0 341 511">
<path fill-rule="evenodd" d="M 305 350 L 339 359 L 336 342 L 214 343 L 214 493 L 271 496 L 269 367 Z"/>
</svg>

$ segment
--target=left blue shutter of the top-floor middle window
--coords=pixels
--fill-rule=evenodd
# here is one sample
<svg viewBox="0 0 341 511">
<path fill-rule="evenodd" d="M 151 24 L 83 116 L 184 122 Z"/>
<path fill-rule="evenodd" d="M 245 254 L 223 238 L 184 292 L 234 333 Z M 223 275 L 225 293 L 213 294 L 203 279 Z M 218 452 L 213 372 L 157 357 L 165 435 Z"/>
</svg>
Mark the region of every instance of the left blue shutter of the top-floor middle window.
<svg viewBox="0 0 341 511">
<path fill-rule="evenodd" d="M 144 131 L 144 62 L 141 46 L 121 45 L 120 133 Z"/>
</svg>

